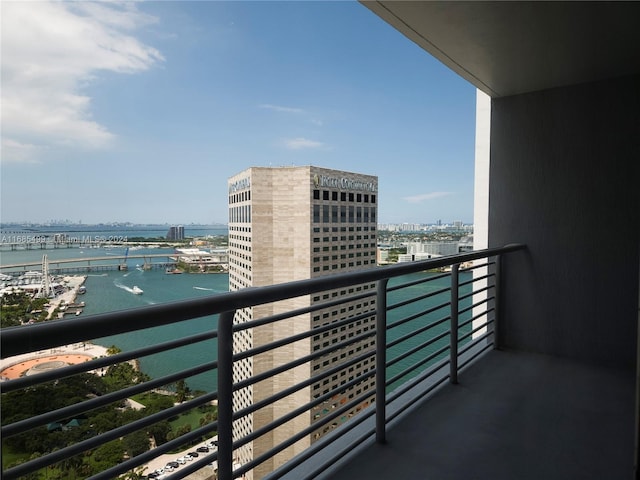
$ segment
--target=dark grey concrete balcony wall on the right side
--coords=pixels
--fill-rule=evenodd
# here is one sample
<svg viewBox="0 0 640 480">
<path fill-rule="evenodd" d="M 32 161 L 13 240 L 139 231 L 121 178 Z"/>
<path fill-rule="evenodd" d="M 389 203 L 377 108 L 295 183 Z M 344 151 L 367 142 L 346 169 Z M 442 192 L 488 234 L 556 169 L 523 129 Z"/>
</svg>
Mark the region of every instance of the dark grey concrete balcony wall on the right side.
<svg viewBox="0 0 640 480">
<path fill-rule="evenodd" d="M 505 266 L 501 341 L 635 368 L 640 77 L 492 101 L 489 245 Z"/>
</svg>

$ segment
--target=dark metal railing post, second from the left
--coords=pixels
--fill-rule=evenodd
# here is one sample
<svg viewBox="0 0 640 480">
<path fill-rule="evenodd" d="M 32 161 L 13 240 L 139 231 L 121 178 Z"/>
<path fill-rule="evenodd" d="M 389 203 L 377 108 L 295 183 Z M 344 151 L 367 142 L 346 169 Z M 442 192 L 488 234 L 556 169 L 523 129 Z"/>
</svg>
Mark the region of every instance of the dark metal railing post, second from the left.
<svg viewBox="0 0 640 480">
<path fill-rule="evenodd" d="M 378 280 L 376 299 L 376 442 L 385 443 L 387 437 L 387 283 Z"/>
</svg>

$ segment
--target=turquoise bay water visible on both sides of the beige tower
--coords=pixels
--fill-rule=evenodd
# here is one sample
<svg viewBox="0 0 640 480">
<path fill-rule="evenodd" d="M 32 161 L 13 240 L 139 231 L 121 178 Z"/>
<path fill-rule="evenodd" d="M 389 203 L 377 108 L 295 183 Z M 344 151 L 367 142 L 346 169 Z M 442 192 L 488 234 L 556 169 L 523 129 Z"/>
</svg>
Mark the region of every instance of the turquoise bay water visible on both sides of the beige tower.
<svg viewBox="0 0 640 480">
<path fill-rule="evenodd" d="M 217 232 L 220 232 L 219 230 Z M 223 233 L 204 233 L 203 235 L 217 235 Z M 136 235 L 139 236 L 139 235 Z M 129 254 L 151 254 L 151 253 L 172 253 L 172 249 L 142 249 L 130 252 Z M 46 253 L 50 260 L 68 258 L 86 258 L 104 256 L 123 255 L 123 248 L 65 248 L 51 250 L 17 250 L 0 252 L 2 264 L 13 264 L 20 262 L 31 262 L 42 260 L 43 253 Z M 86 307 L 83 316 L 92 314 L 137 308 L 146 305 L 161 304 L 176 300 L 201 298 L 208 295 L 218 295 L 228 291 L 229 279 L 226 274 L 182 274 L 167 275 L 162 269 L 152 269 L 142 271 L 136 268 L 136 264 L 141 264 L 141 259 L 129 259 L 129 270 L 126 272 L 108 271 L 88 274 L 86 280 L 87 293 L 78 300 L 83 300 Z M 390 282 L 390 286 L 399 283 L 406 283 L 412 280 L 431 277 L 431 273 L 417 273 L 406 275 Z M 468 275 L 468 274 L 467 274 Z M 408 287 L 389 294 L 388 304 L 392 305 L 403 299 L 418 296 L 420 294 L 446 287 L 449 279 L 438 279 L 427 284 Z M 132 288 L 138 286 L 144 293 L 135 295 Z M 463 289 L 464 291 L 464 289 Z M 399 309 L 391 310 L 388 315 L 389 323 L 393 323 L 400 318 L 412 315 L 420 310 L 438 305 L 446 301 L 446 294 L 439 295 L 428 300 L 423 300 L 417 304 L 411 304 Z M 433 322 L 448 314 L 448 310 L 435 312 L 429 319 L 418 319 L 415 322 L 393 329 L 389 333 L 390 338 L 398 338 L 401 335 L 410 333 L 419 326 L 427 322 Z M 462 321 L 462 319 L 461 319 Z M 152 345 L 168 341 L 177 337 L 184 337 L 195 333 L 200 333 L 217 327 L 217 316 L 204 317 L 181 322 L 179 324 L 157 327 L 141 332 L 132 332 L 108 338 L 91 339 L 94 343 L 109 347 L 116 345 L 123 351 L 129 351 L 146 345 Z M 437 333 L 447 328 L 443 325 L 438 328 Z M 418 341 L 430 338 L 435 333 L 433 331 L 417 336 L 410 342 L 397 346 L 389 352 L 389 358 L 407 351 Z M 89 340 L 89 339 L 88 339 Z M 448 342 L 448 338 L 443 339 L 437 346 L 430 348 L 435 350 L 438 346 Z M 203 342 L 181 348 L 179 351 L 165 352 L 140 359 L 142 370 L 151 377 L 157 378 L 167 375 L 179 369 L 185 369 L 194 365 L 206 363 L 216 358 L 217 346 L 215 341 Z M 389 375 L 394 375 L 400 369 L 409 366 L 415 359 L 424 356 L 424 352 L 414 354 L 397 365 L 389 369 Z M 215 389 L 215 372 L 202 374 L 188 379 L 187 383 L 193 390 L 210 391 Z"/>
</svg>

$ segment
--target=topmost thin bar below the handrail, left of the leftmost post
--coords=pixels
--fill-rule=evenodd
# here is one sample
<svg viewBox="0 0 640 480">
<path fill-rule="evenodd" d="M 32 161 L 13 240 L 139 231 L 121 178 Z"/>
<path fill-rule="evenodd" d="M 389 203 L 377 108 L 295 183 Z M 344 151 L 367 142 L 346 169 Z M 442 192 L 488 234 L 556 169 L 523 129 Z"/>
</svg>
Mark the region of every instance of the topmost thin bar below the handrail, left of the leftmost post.
<svg viewBox="0 0 640 480">
<path fill-rule="evenodd" d="M 164 352 L 173 348 L 183 347 L 185 345 L 191 345 L 193 343 L 203 342 L 217 338 L 218 332 L 215 330 L 191 335 L 178 340 L 171 340 L 156 345 L 150 345 L 148 347 L 138 348 L 128 352 L 116 353 L 114 355 L 108 355 L 106 357 L 99 357 L 88 362 L 82 362 L 75 365 L 69 365 L 64 368 L 57 368 L 47 372 L 39 373 L 38 375 L 28 375 L 19 377 L 14 380 L 8 380 L 6 382 L 0 382 L 0 391 L 2 393 L 8 393 L 14 390 L 31 387 L 33 385 L 45 383 L 50 380 L 59 380 L 61 378 L 70 377 L 78 373 L 90 372 L 103 367 L 110 367 L 117 363 L 124 363 L 129 360 L 138 359 L 140 357 L 146 357 L 155 353 Z"/>
</svg>

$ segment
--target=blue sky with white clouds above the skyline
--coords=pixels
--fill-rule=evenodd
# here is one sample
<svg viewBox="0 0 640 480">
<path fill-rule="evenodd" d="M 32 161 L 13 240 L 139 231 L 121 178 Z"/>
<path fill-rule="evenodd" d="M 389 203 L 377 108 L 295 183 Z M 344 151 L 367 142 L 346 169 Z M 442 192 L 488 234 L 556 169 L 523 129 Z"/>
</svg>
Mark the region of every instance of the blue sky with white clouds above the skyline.
<svg viewBox="0 0 640 480">
<path fill-rule="evenodd" d="M 473 220 L 475 87 L 355 1 L 0 8 L 2 222 L 226 223 L 227 179 L 284 165 Z"/>
</svg>

